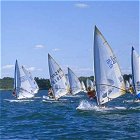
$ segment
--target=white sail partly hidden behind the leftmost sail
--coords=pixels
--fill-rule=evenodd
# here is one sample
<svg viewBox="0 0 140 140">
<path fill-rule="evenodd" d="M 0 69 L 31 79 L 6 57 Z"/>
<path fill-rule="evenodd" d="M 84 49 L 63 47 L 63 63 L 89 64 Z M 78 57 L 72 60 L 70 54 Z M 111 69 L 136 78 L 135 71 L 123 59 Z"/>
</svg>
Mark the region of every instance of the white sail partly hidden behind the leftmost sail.
<svg viewBox="0 0 140 140">
<path fill-rule="evenodd" d="M 29 83 L 32 87 L 34 94 L 36 94 L 39 90 L 39 87 L 38 87 L 36 81 L 34 80 L 34 78 L 32 77 L 31 72 L 27 71 L 27 69 L 25 69 L 25 67 L 23 67 L 23 66 L 22 66 L 22 69 L 23 69 L 24 73 L 26 74 L 27 79 L 29 80 Z"/>
</svg>

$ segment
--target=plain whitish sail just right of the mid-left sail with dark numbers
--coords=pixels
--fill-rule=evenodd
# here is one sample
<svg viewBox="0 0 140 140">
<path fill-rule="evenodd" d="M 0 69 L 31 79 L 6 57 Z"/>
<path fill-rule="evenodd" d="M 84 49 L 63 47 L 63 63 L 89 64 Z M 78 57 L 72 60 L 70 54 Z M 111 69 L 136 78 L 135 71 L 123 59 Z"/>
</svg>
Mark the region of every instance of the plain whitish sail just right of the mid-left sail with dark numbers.
<svg viewBox="0 0 140 140">
<path fill-rule="evenodd" d="M 74 74 L 74 72 L 70 68 L 68 68 L 68 79 L 71 93 L 73 95 L 79 93 L 82 90 L 81 83 L 78 77 Z"/>
</svg>

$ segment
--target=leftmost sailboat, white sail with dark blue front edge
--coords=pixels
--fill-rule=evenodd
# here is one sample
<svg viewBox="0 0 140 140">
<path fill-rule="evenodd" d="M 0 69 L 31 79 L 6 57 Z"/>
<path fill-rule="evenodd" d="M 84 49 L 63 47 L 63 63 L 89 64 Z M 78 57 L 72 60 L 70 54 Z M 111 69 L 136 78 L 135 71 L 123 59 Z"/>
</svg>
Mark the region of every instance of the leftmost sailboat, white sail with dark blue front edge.
<svg viewBox="0 0 140 140">
<path fill-rule="evenodd" d="M 17 99 L 26 99 L 34 97 L 34 92 L 28 81 L 28 78 L 24 73 L 23 68 L 19 67 L 17 60 L 15 63 L 13 93 L 13 95 L 16 96 Z"/>
</svg>

